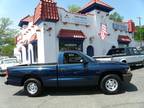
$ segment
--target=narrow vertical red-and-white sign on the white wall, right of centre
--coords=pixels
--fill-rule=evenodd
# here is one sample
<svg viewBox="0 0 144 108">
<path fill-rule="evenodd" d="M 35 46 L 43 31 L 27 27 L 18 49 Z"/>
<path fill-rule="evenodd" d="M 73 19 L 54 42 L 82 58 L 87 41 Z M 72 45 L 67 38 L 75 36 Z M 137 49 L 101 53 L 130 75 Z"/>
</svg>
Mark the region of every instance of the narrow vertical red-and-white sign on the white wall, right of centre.
<svg viewBox="0 0 144 108">
<path fill-rule="evenodd" d="M 102 40 L 104 40 L 107 35 L 108 35 L 107 25 L 106 24 L 101 24 L 100 33 L 99 33 L 100 38 Z"/>
</svg>

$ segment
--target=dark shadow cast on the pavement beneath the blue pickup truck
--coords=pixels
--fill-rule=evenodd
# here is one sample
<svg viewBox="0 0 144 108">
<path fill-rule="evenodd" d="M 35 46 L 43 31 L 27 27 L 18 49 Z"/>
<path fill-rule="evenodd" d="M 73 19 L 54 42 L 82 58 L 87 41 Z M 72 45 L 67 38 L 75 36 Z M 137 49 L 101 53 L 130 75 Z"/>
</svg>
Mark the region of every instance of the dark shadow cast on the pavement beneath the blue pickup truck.
<svg viewBox="0 0 144 108">
<path fill-rule="evenodd" d="M 134 92 L 137 91 L 137 87 L 132 84 L 123 84 L 123 89 L 121 90 L 121 93 L 125 93 L 125 92 Z M 86 88 L 86 87 L 82 87 L 82 88 L 45 88 L 43 91 L 43 94 L 41 95 L 41 97 L 43 96 L 75 96 L 75 95 L 94 95 L 94 94 L 103 94 L 99 89 L 96 89 L 95 87 L 91 87 L 91 88 Z M 26 96 L 26 93 L 24 92 L 24 90 L 20 90 L 17 93 L 14 94 L 14 96 Z"/>
</svg>

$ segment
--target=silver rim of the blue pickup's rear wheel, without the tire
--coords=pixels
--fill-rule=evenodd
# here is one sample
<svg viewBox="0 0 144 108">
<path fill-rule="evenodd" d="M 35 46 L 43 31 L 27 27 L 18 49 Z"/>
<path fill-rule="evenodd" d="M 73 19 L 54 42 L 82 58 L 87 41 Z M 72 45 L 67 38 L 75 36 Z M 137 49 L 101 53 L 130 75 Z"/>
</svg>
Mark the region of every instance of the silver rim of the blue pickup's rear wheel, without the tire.
<svg viewBox="0 0 144 108">
<path fill-rule="evenodd" d="M 36 83 L 34 83 L 34 82 L 30 82 L 30 83 L 28 83 L 28 85 L 27 85 L 27 91 L 30 93 L 30 94 L 36 94 L 37 93 L 37 91 L 38 91 L 38 86 L 37 86 L 37 84 Z"/>
</svg>

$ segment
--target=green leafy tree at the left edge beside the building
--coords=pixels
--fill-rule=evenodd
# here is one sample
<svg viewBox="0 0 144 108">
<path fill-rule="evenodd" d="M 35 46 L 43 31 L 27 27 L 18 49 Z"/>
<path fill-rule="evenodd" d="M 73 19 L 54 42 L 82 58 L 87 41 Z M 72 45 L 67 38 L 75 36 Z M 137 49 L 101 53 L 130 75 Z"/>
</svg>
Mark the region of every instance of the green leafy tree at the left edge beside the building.
<svg viewBox="0 0 144 108">
<path fill-rule="evenodd" d="M 0 55 L 13 56 L 15 47 L 14 36 L 18 33 L 11 27 L 12 21 L 9 18 L 0 18 Z"/>
</svg>

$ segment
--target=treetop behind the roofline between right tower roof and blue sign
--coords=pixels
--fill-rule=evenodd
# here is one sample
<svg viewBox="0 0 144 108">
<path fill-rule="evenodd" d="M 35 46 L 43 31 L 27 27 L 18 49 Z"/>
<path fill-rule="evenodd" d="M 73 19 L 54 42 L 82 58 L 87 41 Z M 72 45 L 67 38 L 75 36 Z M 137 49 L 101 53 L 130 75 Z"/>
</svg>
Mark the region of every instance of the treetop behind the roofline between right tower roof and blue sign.
<svg viewBox="0 0 144 108">
<path fill-rule="evenodd" d="M 124 19 L 124 17 L 120 16 L 120 14 L 117 12 L 110 14 L 109 18 L 113 21 L 116 21 L 116 22 L 122 22 Z"/>
</svg>

